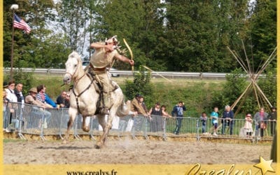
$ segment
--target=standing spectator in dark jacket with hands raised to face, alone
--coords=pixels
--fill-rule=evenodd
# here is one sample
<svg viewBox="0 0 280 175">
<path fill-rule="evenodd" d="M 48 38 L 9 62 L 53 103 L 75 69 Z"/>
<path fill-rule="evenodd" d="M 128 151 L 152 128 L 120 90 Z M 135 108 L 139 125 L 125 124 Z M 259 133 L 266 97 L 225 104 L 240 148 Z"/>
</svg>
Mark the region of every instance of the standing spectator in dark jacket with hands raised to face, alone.
<svg viewBox="0 0 280 175">
<path fill-rule="evenodd" d="M 172 117 L 176 114 L 176 128 L 174 130 L 174 134 L 177 135 L 180 133 L 180 128 L 183 120 L 183 111 L 187 111 L 187 109 L 182 101 L 176 104 L 172 110 Z"/>
</svg>

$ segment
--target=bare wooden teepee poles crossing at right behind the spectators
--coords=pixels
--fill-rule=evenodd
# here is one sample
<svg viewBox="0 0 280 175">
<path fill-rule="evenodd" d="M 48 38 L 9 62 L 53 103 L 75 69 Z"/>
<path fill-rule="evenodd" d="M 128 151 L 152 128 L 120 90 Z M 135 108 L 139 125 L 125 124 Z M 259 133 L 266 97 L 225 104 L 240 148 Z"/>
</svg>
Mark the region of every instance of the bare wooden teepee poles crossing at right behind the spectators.
<svg viewBox="0 0 280 175">
<path fill-rule="evenodd" d="M 237 100 L 232 104 L 231 109 L 234 109 L 235 106 L 240 102 L 237 111 L 235 113 L 239 113 L 241 106 L 244 104 L 246 96 L 253 91 L 253 94 L 255 96 L 256 101 L 258 102 L 258 107 L 260 109 L 261 106 L 267 107 L 267 109 L 270 109 L 272 107 L 272 104 L 269 102 L 267 97 L 265 96 L 265 93 L 262 92 L 260 87 L 258 86 L 258 78 L 260 77 L 261 73 L 267 68 L 270 62 L 276 57 L 276 48 L 274 48 L 271 55 L 269 55 L 268 59 L 260 66 L 260 68 L 254 72 L 251 68 L 250 61 L 246 55 L 246 50 L 244 47 L 244 43 L 242 41 L 242 45 L 244 48 L 244 55 L 246 57 L 246 62 L 244 62 L 241 57 L 238 56 L 237 52 L 230 50 L 228 47 L 228 50 L 232 53 L 232 55 L 237 59 L 237 62 L 241 65 L 242 69 L 248 74 L 248 78 L 250 80 L 250 83 L 247 85 L 244 92 L 237 98 Z"/>
</svg>

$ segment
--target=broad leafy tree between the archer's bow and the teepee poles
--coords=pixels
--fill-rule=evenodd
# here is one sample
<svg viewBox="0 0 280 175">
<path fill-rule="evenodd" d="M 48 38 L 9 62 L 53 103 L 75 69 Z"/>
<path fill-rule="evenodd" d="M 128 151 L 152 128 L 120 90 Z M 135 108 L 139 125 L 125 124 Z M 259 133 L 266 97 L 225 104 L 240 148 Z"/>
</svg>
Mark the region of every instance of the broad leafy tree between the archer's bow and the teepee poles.
<svg viewBox="0 0 280 175">
<path fill-rule="evenodd" d="M 246 2 L 167 1 L 169 69 L 230 72 L 237 64 L 226 46 L 243 31 Z"/>
</svg>

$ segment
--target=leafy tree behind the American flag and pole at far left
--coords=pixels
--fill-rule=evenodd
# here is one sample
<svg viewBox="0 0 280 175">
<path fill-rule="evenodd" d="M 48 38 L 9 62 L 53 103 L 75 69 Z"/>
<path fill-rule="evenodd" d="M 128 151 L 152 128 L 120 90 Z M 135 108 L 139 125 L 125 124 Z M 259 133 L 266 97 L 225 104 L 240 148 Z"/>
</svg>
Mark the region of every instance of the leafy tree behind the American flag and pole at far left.
<svg viewBox="0 0 280 175">
<path fill-rule="evenodd" d="M 49 24 L 55 14 L 50 10 L 53 1 L 5 1 L 4 6 L 4 66 L 10 66 L 11 29 L 13 25 L 12 12 L 9 10 L 13 3 L 19 5 L 16 13 L 31 27 L 31 33 L 25 34 L 15 29 L 14 37 L 14 66 L 15 67 L 52 67 L 62 68 L 65 55 L 69 50 L 64 49 L 61 38 L 52 34 Z"/>
</svg>

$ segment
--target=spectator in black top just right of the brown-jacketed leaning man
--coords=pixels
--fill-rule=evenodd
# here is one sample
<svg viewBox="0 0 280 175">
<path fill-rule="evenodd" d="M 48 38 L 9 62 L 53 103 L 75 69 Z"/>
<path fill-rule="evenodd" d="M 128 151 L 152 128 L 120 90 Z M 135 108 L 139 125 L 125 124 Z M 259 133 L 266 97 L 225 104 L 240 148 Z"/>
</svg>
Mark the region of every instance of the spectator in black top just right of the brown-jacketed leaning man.
<svg viewBox="0 0 280 175">
<path fill-rule="evenodd" d="M 150 109 L 148 116 L 151 117 L 151 132 L 158 132 L 162 129 L 162 109 L 160 103 L 155 103 L 155 106 Z"/>
</svg>

